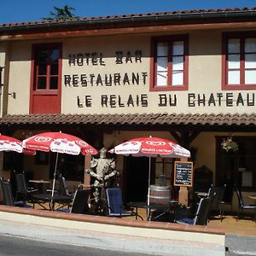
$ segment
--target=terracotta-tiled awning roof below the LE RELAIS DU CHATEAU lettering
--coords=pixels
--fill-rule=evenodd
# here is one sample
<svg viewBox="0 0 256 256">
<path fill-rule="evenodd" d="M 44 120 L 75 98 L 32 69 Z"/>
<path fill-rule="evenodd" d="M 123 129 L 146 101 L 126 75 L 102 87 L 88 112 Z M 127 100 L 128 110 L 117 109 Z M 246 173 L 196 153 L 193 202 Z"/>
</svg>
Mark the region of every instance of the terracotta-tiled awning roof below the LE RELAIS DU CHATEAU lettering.
<svg viewBox="0 0 256 256">
<path fill-rule="evenodd" d="M 18 114 L 0 118 L 0 125 L 256 125 L 256 114 Z"/>
</svg>

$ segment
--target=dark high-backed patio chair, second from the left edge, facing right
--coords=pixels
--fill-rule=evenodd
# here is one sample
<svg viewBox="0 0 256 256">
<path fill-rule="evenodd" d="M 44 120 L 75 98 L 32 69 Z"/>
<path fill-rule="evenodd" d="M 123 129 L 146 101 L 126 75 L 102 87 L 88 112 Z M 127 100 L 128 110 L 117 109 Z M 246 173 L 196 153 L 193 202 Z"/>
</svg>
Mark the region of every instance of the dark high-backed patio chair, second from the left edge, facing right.
<svg viewBox="0 0 256 256">
<path fill-rule="evenodd" d="M 16 182 L 16 195 L 15 201 L 32 201 L 32 194 L 38 192 L 38 189 L 28 187 L 26 181 L 25 172 L 14 172 L 15 173 L 15 182 Z"/>
</svg>

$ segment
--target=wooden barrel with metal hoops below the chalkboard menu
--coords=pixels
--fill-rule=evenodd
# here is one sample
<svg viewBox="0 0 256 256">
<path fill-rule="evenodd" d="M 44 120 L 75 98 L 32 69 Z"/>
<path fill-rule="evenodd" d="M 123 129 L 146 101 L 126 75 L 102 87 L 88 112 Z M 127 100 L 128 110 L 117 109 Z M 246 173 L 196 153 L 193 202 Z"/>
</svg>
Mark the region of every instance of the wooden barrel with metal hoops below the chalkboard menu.
<svg viewBox="0 0 256 256">
<path fill-rule="evenodd" d="M 167 205 L 171 201 L 171 190 L 169 186 L 150 185 L 149 203 Z"/>
</svg>

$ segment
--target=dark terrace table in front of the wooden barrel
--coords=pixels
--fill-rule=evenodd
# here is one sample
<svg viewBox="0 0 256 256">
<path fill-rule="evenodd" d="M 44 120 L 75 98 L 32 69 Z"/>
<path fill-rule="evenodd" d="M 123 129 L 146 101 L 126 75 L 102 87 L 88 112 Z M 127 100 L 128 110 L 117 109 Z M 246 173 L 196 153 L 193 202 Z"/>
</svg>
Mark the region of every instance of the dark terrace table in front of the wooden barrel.
<svg viewBox="0 0 256 256">
<path fill-rule="evenodd" d="M 163 211 L 160 214 L 158 214 L 157 216 L 155 216 L 153 218 L 153 220 L 155 220 L 157 218 L 160 218 L 166 212 L 169 212 L 170 215 L 171 215 L 171 222 L 174 222 L 175 205 L 177 205 L 177 201 L 175 201 L 175 200 L 169 201 L 169 204 L 166 204 L 166 205 L 158 204 L 158 203 L 153 203 L 153 204 L 151 203 L 151 204 L 148 205 L 148 203 L 145 202 L 145 201 L 133 201 L 133 202 L 127 203 L 127 206 L 136 208 L 136 212 L 135 212 L 136 219 L 137 219 L 137 216 L 138 216 L 137 209 L 138 208 L 145 208 L 145 209 L 149 209 L 149 210 L 160 210 L 160 211 Z M 149 215 L 148 215 L 148 218 L 149 218 Z"/>
</svg>

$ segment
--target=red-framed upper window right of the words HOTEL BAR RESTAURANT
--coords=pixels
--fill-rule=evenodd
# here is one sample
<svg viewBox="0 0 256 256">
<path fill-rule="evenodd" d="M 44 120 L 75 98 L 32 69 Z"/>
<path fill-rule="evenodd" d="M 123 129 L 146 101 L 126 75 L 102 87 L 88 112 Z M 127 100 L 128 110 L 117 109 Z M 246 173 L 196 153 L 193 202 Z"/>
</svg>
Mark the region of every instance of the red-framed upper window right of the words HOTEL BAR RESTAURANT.
<svg viewBox="0 0 256 256">
<path fill-rule="evenodd" d="M 188 37 L 152 39 L 151 90 L 188 90 Z"/>
</svg>

